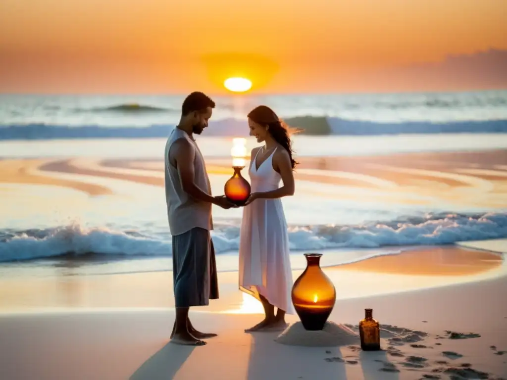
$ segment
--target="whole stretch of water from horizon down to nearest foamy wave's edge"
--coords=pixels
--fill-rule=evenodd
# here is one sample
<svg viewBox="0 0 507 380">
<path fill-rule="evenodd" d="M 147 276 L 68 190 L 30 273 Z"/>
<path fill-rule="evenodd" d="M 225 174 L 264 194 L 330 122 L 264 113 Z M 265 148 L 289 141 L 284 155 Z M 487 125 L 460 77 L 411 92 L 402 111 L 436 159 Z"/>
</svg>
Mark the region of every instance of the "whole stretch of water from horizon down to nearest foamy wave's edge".
<svg viewBox="0 0 507 380">
<path fill-rule="evenodd" d="M 283 199 L 296 267 L 306 251 L 334 265 L 507 237 L 507 91 L 214 99 L 197 141 L 216 195 L 232 138 L 257 144 L 252 107 L 304 128 L 296 194 Z M 1 95 L 0 275 L 62 260 L 86 273 L 169 270 L 163 151 L 182 100 Z M 241 209 L 213 218 L 219 270 L 235 270 Z"/>
</svg>

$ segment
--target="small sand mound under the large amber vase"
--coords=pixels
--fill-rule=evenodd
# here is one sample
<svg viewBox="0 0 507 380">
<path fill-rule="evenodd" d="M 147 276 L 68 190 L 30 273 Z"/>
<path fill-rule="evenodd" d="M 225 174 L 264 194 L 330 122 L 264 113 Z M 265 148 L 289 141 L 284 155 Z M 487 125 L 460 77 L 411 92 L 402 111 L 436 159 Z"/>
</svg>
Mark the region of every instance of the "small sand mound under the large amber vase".
<svg viewBox="0 0 507 380">
<path fill-rule="evenodd" d="M 307 331 L 301 322 L 296 322 L 278 335 L 275 341 L 289 346 L 337 347 L 358 344 L 359 335 L 333 322 L 326 322 L 320 331 Z"/>
</svg>

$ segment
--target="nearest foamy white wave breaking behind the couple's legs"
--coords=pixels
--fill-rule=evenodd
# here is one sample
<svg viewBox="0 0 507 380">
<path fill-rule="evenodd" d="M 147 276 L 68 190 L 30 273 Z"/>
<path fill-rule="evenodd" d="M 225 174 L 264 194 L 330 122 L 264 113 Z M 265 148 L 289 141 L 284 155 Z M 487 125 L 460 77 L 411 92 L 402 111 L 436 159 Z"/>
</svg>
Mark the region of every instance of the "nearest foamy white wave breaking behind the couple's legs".
<svg viewBox="0 0 507 380">
<path fill-rule="evenodd" d="M 288 234 L 293 251 L 445 245 L 507 237 L 507 213 L 428 214 L 361 225 L 291 226 Z M 238 250 L 237 225 L 218 224 L 212 236 L 217 254 Z M 0 231 L 0 262 L 90 254 L 111 258 L 169 257 L 171 248 L 169 234 L 85 228 L 79 224 Z"/>
</svg>

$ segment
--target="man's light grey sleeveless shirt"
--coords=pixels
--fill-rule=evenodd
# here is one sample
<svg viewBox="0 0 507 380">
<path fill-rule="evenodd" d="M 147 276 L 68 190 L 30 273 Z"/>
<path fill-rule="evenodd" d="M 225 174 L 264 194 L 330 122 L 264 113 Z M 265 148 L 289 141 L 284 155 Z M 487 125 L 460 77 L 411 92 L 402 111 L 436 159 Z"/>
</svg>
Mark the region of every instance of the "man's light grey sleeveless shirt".
<svg viewBox="0 0 507 380">
<path fill-rule="evenodd" d="M 165 200 L 171 235 L 181 235 L 194 227 L 213 230 L 211 203 L 198 201 L 184 191 L 178 170 L 169 161 L 169 150 L 174 141 L 185 138 L 195 147 L 195 184 L 204 193 L 211 195 L 206 165 L 195 140 L 187 132 L 174 128 L 165 144 Z"/>
</svg>

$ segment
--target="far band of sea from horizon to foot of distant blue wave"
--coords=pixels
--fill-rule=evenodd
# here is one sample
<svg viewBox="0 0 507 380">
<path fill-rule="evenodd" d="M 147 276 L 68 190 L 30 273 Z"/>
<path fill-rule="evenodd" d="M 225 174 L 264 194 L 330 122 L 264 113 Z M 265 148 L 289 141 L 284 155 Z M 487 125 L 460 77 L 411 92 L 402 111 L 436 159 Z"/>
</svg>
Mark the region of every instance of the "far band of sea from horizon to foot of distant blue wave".
<svg viewBox="0 0 507 380">
<path fill-rule="evenodd" d="M 0 140 L 165 137 L 184 96 L 0 94 Z M 507 132 L 507 91 L 218 96 L 207 135 L 247 135 L 246 113 L 271 106 L 308 134 Z M 295 119 L 295 120 L 294 120 Z"/>
</svg>

